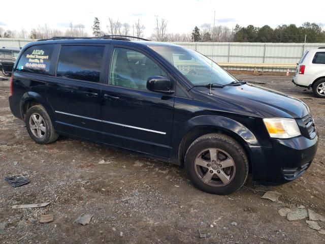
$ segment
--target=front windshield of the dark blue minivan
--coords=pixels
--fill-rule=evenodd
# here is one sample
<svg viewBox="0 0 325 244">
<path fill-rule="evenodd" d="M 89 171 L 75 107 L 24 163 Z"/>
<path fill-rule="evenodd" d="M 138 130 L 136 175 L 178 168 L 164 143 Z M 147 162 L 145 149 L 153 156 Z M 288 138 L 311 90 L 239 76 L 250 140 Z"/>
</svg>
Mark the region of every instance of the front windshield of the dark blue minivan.
<svg viewBox="0 0 325 244">
<path fill-rule="evenodd" d="M 150 46 L 166 58 L 193 85 L 226 85 L 237 79 L 211 59 L 194 50 L 179 46 Z"/>
</svg>

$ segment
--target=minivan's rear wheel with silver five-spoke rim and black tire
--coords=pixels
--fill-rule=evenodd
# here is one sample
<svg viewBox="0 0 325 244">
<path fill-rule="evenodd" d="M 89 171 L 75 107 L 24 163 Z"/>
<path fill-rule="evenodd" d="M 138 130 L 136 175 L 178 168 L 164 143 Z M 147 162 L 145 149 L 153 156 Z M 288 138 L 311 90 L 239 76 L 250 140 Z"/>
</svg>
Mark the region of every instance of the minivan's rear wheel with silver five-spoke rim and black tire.
<svg viewBox="0 0 325 244">
<path fill-rule="evenodd" d="M 32 106 L 25 116 L 27 132 L 31 139 L 39 144 L 48 144 L 57 140 L 50 116 L 42 105 Z"/>
</svg>

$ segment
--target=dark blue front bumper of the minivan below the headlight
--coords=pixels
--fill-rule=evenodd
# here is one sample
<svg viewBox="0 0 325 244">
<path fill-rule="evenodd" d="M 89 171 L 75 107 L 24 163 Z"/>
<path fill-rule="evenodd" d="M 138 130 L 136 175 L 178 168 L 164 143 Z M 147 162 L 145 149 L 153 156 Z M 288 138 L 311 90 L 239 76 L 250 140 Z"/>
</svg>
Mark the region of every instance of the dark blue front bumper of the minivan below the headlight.
<svg viewBox="0 0 325 244">
<path fill-rule="evenodd" d="M 253 180 L 265 184 L 283 184 L 302 175 L 313 161 L 318 135 L 271 139 L 272 147 L 255 146 L 252 152 Z"/>
</svg>

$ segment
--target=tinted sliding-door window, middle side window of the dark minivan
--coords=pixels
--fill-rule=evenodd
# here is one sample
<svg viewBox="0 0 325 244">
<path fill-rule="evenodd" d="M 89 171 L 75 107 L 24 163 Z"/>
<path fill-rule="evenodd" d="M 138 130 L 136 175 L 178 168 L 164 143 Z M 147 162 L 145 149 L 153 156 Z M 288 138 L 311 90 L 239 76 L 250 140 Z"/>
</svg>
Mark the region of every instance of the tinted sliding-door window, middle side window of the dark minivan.
<svg viewBox="0 0 325 244">
<path fill-rule="evenodd" d="M 100 81 L 104 46 L 62 46 L 56 76 Z"/>
</svg>

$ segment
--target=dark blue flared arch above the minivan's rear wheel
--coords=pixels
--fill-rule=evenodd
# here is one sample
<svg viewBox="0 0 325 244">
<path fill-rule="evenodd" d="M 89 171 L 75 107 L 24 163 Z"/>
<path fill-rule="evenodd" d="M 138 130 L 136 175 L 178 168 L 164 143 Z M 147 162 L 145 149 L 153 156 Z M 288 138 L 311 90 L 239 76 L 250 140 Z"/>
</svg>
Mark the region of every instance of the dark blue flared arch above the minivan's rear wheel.
<svg viewBox="0 0 325 244">
<path fill-rule="evenodd" d="M 52 107 L 50 106 L 50 104 L 48 103 L 47 99 L 42 97 L 39 93 L 31 92 L 31 91 L 24 93 L 24 95 L 20 99 L 19 107 L 20 107 L 20 114 L 22 118 L 24 118 L 25 104 L 31 101 L 41 104 L 45 108 L 46 112 L 49 114 L 51 120 L 52 121 L 55 120 L 55 113 Z"/>
</svg>

